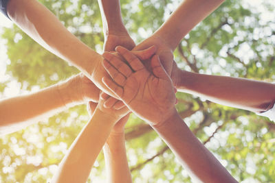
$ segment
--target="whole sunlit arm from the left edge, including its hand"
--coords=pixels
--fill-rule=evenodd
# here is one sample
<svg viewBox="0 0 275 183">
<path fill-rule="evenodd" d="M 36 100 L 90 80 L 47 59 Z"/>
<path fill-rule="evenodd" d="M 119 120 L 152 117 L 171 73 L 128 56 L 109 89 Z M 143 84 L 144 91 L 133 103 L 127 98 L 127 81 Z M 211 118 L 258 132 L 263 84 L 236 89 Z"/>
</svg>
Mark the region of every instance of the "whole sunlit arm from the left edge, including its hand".
<svg viewBox="0 0 275 183">
<path fill-rule="evenodd" d="M 65 82 L 54 84 L 28 95 L 0 100 L 0 132 L 20 130 L 36 119 L 50 117 L 66 106 L 87 100 L 98 101 L 100 90 L 85 75 L 78 74 Z"/>
</svg>

